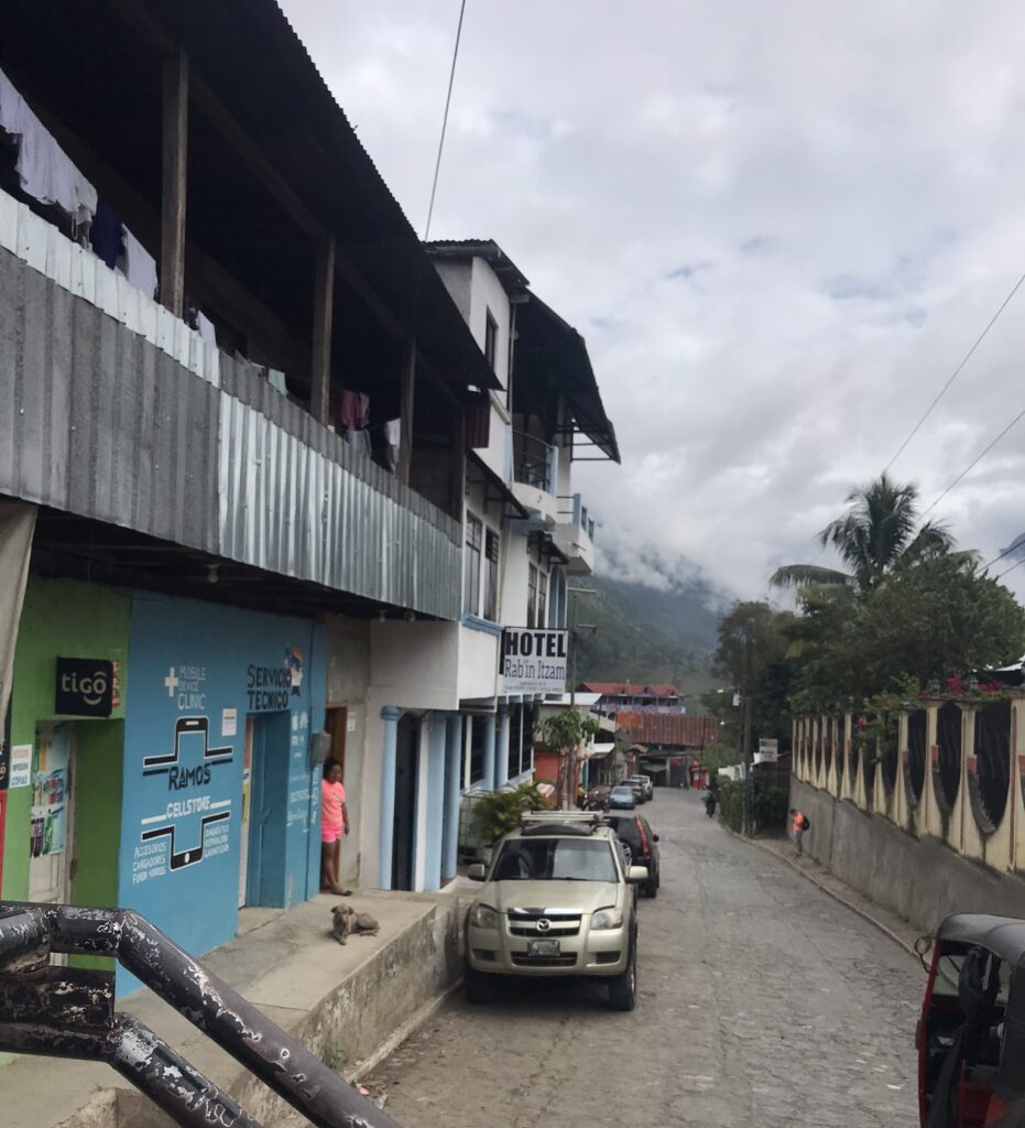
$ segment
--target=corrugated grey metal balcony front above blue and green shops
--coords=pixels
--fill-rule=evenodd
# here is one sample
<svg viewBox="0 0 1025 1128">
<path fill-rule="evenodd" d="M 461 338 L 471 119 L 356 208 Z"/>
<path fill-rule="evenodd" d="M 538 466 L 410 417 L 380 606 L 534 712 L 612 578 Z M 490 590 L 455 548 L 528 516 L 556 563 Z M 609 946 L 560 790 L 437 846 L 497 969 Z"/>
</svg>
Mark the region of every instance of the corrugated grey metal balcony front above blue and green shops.
<svg viewBox="0 0 1025 1128">
<path fill-rule="evenodd" d="M 459 618 L 458 522 L 3 192 L 0 494 Z"/>
</svg>

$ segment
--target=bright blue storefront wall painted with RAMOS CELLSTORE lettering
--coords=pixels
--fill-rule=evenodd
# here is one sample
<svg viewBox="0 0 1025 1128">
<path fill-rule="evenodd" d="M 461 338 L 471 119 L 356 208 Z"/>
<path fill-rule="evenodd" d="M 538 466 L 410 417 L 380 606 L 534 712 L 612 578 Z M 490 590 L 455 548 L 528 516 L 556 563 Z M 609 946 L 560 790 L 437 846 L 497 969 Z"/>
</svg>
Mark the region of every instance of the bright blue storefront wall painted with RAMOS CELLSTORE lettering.
<svg viewBox="0 0 1025 1128">
<path fill-rule="evenodd" d="M 253 775 L 264 769 L 246 779 L 262 792 L 250 826 L 265 828 L 256 860 L 249 848 L 249 901 L 289 907 L 319 889 L 309 740 L 324 728 L 326 638 L 303 619 L 140 592 L 129 654 L 121 904 L 200 954 L 238 929 L 247 717 L 263 734 Z"/>
</svg>

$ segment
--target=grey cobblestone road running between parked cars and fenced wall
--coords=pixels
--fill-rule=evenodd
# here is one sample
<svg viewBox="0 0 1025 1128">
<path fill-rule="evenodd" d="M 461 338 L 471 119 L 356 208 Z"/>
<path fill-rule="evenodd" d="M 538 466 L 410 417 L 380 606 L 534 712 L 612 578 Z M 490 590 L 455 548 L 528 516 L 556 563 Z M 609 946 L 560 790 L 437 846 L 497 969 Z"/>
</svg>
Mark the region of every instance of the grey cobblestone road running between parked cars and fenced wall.
<svg viewBox="0 0 1025 1128">
<path fill-rule="evenodd" d="M 640 999 L 518 984 L 453 999 L 372 1078 L 404 1128 L 869 1128 L 917 1121 L 911 957 L 696 796 L 644 809 L 662 889 L 640 901 Z"/>
</svg>

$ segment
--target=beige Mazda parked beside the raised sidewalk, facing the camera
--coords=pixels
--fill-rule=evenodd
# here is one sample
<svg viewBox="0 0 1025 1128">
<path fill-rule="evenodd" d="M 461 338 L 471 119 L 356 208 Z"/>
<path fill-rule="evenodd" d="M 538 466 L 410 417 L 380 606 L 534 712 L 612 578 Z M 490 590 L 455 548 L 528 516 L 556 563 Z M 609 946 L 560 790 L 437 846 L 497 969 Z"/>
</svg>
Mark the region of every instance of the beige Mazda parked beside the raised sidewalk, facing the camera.
<svg viewBox="0 0 1025 1128">
<path fill-rule="evenodd" d="M 635 889 L 648 873 L 624 855 L 601 816 L 523 816 L 496 844 L 487 875 L 483 865 L 469 871 L 484 887 L 467 916 L 467 1001 L 488 1002 L 496 976 L 586 976 L 607 981 L 613 1010 L 633 1011 Z"/>
</svg>

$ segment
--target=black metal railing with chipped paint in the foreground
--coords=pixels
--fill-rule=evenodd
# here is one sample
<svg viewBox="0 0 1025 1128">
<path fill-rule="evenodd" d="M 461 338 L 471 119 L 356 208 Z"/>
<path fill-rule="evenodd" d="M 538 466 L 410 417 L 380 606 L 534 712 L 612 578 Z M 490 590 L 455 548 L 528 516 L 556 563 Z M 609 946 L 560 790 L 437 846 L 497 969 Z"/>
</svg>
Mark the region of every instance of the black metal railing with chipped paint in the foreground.
<svg viewBox="0 0 1025 1128">
<path fill-rule="evenodd" d="M 106 1061 L 184 1128 L 259 1122 L 151 1030 L 114 1010 L 108 971 L 51 953 L 118 960 L 319 1128 L 397 1128 L 304 1046 L 126 909 L 0 901 L 0 1050 Z"/>
</svg>

